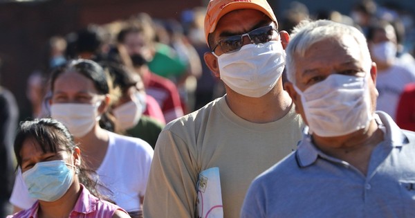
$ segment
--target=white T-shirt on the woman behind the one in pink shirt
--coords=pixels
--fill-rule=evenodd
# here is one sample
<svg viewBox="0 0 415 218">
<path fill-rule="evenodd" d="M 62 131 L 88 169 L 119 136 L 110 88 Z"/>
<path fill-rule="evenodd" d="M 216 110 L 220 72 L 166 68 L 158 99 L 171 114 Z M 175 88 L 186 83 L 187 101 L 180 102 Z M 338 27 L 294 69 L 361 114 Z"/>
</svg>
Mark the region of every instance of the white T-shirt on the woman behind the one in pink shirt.
<svg viewBox="0 0 415 218">
<path fill-rule="evenodd" d="M 103 192 L 127 211 L 140 208 L 144 196 L 154 151 L 140 138 L 121 136 L 108 131 L 109 146 L 97 170 L 101 182 L 111 190 Z M 22 209 L 30 208 L 36 199 L 30 199 L 26 184 L 19 171 L 10 203 Z"/>
</svg>

